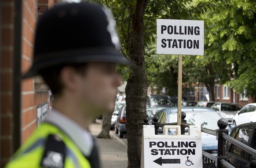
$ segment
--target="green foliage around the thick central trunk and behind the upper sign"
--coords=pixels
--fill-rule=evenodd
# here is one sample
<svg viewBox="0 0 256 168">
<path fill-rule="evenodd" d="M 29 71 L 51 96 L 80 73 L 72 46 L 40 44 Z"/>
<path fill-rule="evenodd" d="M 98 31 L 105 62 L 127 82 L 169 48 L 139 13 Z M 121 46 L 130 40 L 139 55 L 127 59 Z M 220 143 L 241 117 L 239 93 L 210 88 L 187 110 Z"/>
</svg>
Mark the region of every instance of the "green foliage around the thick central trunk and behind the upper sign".
<svg viewBox="0 0 256 168">
<path fill-rule="evenodd" d="M 135 0 L 86 0 L 101 4 L 110 8 L 117 22 L 117 32 L 122 44 L 122 54 L 131 56 L 132 50 L 132 20 L 135 11 Z M 156 54 L 157 18 L 201 20 L 201 15 L 210 11 L 215 4 L 210 1 L 194 3 L 192 0 L 147 0 L 144 12 L 144 45 L 145 67 L 148 86 L 157 86 L 157 91 L 163 87 L 172 96 L 177 95 L 178 56 Z M 207 32 L 210 23 L 204 18 Z M 124 80 L 128 79 L 129 69 L 121 66 L 117 68 Z M 191 73 L 185 72 L 183 82 L 189 84 L 196 80 L 190 80 Z M 193 75 L 195 76 L 195 75 Z"/>
</svg>

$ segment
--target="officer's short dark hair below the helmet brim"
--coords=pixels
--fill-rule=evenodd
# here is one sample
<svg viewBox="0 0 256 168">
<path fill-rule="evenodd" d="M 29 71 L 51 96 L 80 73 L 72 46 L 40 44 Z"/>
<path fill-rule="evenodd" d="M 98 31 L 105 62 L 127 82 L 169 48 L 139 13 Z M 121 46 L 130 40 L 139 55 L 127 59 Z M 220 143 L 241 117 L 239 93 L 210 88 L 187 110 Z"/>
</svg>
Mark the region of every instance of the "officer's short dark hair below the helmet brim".
<svg viewBox="0 0 256 168">
<path fill-rule="evenodd" d="M 80 75 L 85 75 L 86 72 L 86 63 L 83 64 L 62 64 L 57 65 L 51 68 L 44 69 L 39 72 L 39 74 L 43 77 L 44 82 L 51 89 L 52 94 L 56 96 L 60 96 L 62 94 L 63 84 L 60 79 L 61 70 L 66 67 L 72 67 L 75 71 Z"/>
</svg>

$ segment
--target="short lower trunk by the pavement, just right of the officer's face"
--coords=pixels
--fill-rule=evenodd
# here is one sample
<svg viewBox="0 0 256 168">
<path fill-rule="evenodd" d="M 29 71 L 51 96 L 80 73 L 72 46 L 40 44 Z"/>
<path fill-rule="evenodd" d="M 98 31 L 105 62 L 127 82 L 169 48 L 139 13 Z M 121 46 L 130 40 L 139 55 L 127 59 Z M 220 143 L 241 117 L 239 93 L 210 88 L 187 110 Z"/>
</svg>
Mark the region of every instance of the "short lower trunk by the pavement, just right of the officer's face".
<svg viewBox="0 0 256 168">
<path fill-rule="evenodd" d="M 109 139 L 110 138 L 110 125 L 111 125 L 111 117 L 112 114 L 103 114 L 102 118 L 102 129 L 97 138 L 104 138 Z"/>
</svg>

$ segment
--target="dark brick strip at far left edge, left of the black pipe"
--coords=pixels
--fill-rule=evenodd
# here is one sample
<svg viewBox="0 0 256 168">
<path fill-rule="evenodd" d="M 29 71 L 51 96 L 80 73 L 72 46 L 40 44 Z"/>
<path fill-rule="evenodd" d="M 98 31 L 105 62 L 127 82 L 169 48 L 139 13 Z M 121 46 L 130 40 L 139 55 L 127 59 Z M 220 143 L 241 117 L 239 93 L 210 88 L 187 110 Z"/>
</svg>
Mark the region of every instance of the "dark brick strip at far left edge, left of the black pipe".
<svg viewBox="0 0 256 168">
<path fill-rule="evenodd" d="M 14 48 L 14 0 L 2 0 L 1 4 L 1 164 L 0 167 L 8 161 L 12 154 L 12 99 L 13 99 L 13 48 Z"/>
</svg>

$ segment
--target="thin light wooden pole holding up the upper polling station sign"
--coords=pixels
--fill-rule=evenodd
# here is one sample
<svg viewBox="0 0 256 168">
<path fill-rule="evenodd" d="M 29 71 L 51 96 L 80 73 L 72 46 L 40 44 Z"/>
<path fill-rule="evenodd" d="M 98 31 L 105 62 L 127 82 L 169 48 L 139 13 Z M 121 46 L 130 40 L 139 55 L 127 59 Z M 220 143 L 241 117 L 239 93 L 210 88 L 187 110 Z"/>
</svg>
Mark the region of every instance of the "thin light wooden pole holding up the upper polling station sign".
<svg viewBox="0 0 256 168">
<path fill-rule="evenodd" d="M 179 55 L 179 64 L 178 64 L 178 125 L 181 128 L 181 93 L 182 93 L 182 55 Z"/>
</svg>

